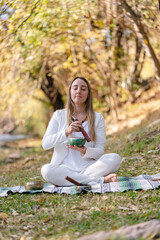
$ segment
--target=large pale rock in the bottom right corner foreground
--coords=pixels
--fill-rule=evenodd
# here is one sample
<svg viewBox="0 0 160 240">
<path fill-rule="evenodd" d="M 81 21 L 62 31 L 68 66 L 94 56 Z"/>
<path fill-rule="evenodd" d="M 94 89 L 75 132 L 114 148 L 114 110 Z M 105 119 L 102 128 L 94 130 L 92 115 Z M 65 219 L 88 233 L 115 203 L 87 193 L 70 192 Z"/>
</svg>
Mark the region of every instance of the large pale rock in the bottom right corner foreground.
<svg viewBox="0 0 160 240">
<path fill-rule="evenodd" d="M 105 232 L 100 231 L 98 233 L 84 236 L 78 238 L 78 240 L 107 240 L 107 239 L 147 239 L 151 237 L 151 239 L 155 239 L 160 237 L 160 221 L 159 220 L 151 220 L 148 222 L 142 222 L 136 225 L 124 226 L 118 230 Z"/>
</svg>

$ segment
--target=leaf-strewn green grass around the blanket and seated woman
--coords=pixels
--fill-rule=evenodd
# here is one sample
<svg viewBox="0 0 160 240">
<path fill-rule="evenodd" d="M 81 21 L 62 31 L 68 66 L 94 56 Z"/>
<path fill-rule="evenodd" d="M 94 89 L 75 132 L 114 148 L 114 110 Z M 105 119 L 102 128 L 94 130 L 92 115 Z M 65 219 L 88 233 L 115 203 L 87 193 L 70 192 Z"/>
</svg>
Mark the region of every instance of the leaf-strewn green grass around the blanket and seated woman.
<svg viewBox="0 0 160 240">
<path fill-rule="evenodd" d="M 156 174 L 159 168 L 159 128 L 134 128 L 108 138 L 105 152 L 123 157 L 119 176 Z M 157 152 L 148 153 L 157 149 Z M 41 179 L 40 168 L 49 162 L 52 151 L 21 149 L 22 158 L 0 163 L 1 186 L 24 185 Z M 33 158 L 31 158 L 33 157 Z M 26 159 L 30 160 L 26 160 Z M 15 194 L 0 198 L 0 238 L 72 240 L 97 231 L 115 230 L 124 225 L 160 219 L 160 190 L 124 193 Z"/>
</svg>

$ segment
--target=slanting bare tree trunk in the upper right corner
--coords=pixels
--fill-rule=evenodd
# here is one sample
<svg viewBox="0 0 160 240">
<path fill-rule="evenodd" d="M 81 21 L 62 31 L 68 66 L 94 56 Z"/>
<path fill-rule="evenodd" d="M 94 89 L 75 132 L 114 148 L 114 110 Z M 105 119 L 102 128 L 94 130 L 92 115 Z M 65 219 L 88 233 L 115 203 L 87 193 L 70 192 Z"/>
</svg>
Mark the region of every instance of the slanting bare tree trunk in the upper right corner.
<svg viewBox="0 0 160 240">
<path fill-rule="evenodd" d="M 122 7 L 127 11 L 127 13 L 130 14 L 136 27 L 138 28 L 138 31 L 139 31 L 138 37 L 140 37 L 143 40 L 148 52 L 150 53 L 150 56 L 153 60 L 154 66 L 155 66 L 157 77 L 158 77 L 158 79 L 160 79 L 160 62 L 150 44 L 148 35 L 144 29 L 143 24 L 141 23 L 139 16 L 132 10 L 132 8 L 128 5 L 128 3 L 125 0 L 120 0 L 120 2 L 121 2 Z"/>
</svg>

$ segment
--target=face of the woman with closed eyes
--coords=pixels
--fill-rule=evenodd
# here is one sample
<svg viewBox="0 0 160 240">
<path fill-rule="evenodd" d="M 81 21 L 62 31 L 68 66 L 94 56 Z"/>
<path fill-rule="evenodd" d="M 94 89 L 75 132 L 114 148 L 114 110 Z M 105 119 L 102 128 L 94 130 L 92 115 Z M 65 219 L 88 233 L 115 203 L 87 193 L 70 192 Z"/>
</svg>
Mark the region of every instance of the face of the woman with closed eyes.
<svg viewBox="0 0 160 240">
<path fill-rule="evenodd" d="M 77 78 L 71 86 L 71 99 L 77 105 L 85 104 L 88 97 L 88 86 L 82 79 Z"/>
</svg>

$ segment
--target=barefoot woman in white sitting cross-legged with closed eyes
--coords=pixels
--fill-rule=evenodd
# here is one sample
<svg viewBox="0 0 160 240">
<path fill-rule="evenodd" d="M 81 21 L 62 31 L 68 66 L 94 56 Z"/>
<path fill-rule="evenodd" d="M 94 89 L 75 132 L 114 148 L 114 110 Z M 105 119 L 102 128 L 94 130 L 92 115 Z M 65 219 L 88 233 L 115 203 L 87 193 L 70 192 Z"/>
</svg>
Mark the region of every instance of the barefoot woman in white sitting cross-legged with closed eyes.
<svg viewBox="0 0 160 240">
<path fill-rule="evenodd" d="M 70 135 L 83 137 L 80 128 L 91 141 L 84 147 L 68 145 Z M 73 185 L 67 176 L 83 185 L 117 181 L 114 172 L 121 158 L 116 153 L 104 154 L 105 142 L 104 118 L 93 111 L 90 85 L 85 78 L 76 77 L 69 87 L 66 109 L 54 112 L 42 140 L 45 150 L 54 148 L 51 163 L 41 169 L 43 178 L 56 186 Z"/>
</svg>

